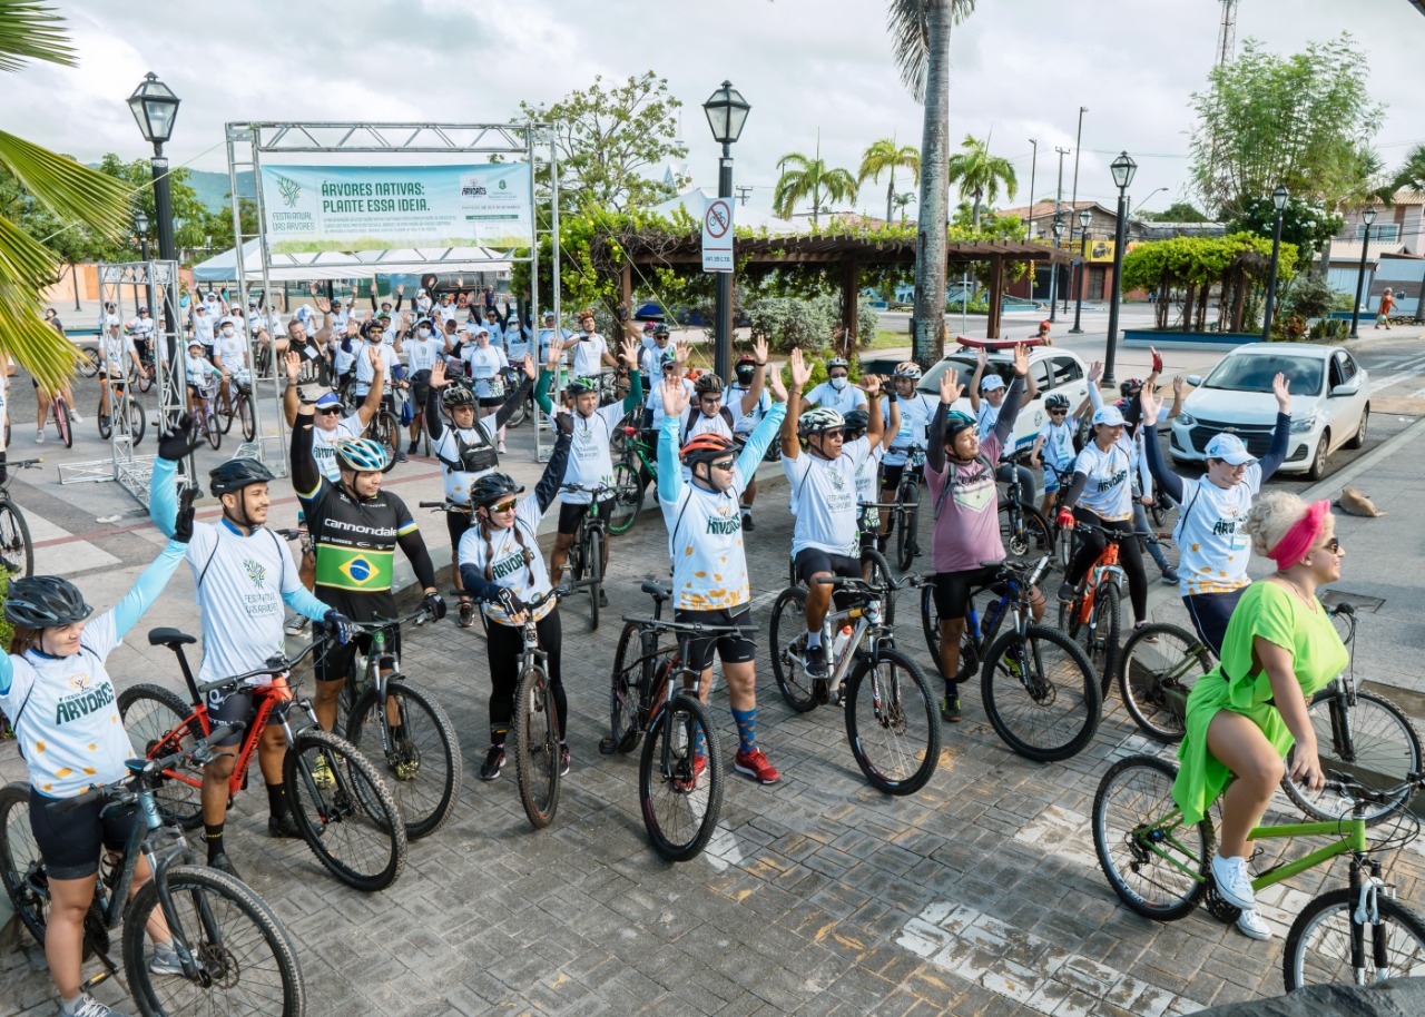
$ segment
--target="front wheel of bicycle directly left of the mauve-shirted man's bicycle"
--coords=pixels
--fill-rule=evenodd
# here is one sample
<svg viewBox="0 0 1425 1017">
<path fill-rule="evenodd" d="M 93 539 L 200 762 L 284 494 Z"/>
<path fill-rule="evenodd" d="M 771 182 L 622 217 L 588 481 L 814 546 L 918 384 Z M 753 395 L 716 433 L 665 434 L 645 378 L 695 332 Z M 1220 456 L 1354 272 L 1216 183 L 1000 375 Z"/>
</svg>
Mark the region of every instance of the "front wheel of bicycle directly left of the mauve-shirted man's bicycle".
<svg viewBox="0 0 1425 1017">
<path fill-rule="evenodd" d="M 915 661 L 891 647 L 876 657 L 846 679 L 851 755 L 872 786 L 913 795 L 940 762 L 940 709 Z"/>
</svg>

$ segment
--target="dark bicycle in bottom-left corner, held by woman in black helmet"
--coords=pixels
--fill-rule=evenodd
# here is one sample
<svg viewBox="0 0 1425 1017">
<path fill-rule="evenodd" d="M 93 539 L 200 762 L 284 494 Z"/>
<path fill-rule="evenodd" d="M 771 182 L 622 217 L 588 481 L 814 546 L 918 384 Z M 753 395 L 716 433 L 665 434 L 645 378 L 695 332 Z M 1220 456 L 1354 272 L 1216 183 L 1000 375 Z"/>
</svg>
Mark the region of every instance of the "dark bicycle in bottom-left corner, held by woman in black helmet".
<svg viewBox="0 0 1425 1017">
<path fill-rule="evenodd" d="M 272 1006 L 278 1000 L 284 1017 L 299 1017 L 306 1010 L 302 969 L 296 947 L 276 914 L 245 883 L 192 865 L 182 832 L 165 825 L 155 802 L 164 773 L 211 759 L 208 741 L 215 736 L 157 759 L 130 759 L 124 778 L 48 806 L 54 813 L 66 813 L 88 802 L 105 800 L 105 812 L 140 816 L 124 848 L 118 853 L 105 850 L 101 860 L 94 899 L 84 917 L 83 956 L 98 957 L 103 970 L 80 990 L 87 991 L 118 974 L 110 957 L 110 933 L 123 923 L 124 981 L 145 1017 L 198 1011 L 275 1013 Z M 43 946 L 50 877 L 30 830 L 30 793 L 26 783 L 0 788 L 0 879 L 20 922 Z M 165 832 L 174 835 L 167 845 L 162 843 Z M 130 900 L 140 859 L 148 862 L 151 879 Z M 181 969 L 158 977 L 144 956 L 145 926 L 157 916 L 172 936 Z"/>
</svg>

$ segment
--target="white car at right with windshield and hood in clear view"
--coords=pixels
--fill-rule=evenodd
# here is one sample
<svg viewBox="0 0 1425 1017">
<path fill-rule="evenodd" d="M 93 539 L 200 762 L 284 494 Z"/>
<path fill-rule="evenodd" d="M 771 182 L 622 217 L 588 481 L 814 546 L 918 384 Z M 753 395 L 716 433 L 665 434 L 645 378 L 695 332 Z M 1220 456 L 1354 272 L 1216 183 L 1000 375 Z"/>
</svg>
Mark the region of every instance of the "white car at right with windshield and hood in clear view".
<svg viewBox="0 0 1425 1017">
<path fill-rule="evenodd" d="M 1265 454 L 1277 426 L 1271 380 L 1278 372 L 1291 389 L 1291 440 L 1282 473 L 1320 480 L 1332 452 L 1365 444 L 1371 379 L 1354 356 L 1312 343 L 1250 343 L 1224 356 L 1206 380 L 1188 375 L 1197 387 L 1173 420 L 1173 459 L 1201 461 L 1203 449 L 1221 432 L 1237 434 L 1251 454 Z"/>
</svg>

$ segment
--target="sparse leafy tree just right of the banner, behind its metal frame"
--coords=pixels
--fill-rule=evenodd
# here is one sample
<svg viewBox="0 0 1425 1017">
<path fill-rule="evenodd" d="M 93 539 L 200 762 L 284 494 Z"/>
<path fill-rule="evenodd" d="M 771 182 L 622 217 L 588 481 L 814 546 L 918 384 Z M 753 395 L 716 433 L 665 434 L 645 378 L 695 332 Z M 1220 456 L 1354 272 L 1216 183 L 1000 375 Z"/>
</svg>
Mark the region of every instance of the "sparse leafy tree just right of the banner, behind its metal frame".
<svg viewBox="0 0 1425 1017">
<path fill-rule="evenodd" d="M 644 175 L 688 154 L 677 140 L 681 107 L 667 78 L 646 71 L 616 85 L 597 75 L 589 88 L 551 105 L 520 103 L 520 117 L 551 125 L 561 208 L 628 212 L 667 201 L 681 187 Z"/>
</svg>

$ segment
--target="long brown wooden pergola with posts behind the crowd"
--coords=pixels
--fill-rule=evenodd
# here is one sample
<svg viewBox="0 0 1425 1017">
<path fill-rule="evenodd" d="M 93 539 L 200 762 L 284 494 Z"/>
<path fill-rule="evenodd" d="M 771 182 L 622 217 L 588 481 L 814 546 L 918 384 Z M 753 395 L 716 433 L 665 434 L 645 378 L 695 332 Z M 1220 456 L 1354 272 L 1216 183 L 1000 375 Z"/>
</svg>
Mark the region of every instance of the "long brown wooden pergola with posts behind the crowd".
<svg viewBox="0 0 1425 1017">
<path fill-rule="evenodd" d="M 620 238 L 624 254 L 623 301 L 633 299 L 634 268 L 674 268 L 703 262 L 701 238 L 690 235 L 673 244 L 640 245 Z M 738 236 L 732 255 L 748 268 L 795 271 L 798 266 L 841 265 L 842 323 L 849 335 L 856 333 L 856 305 L 861 292 L 861 268 L 865 265 L 915 265 L 916 242 L 903 239 L 875 239 L 868 236 Z M 1077 254 L 1059 251 L 1027 241 L 950 241 L 946 245 L 946 269 L 952 266 L 989 264 L 989 320 L 986 338 L 999 339 L 1000 299 L 1005 295 L 1005 264 L 1015 261 L 1077 264 Z"/>
</svg>

